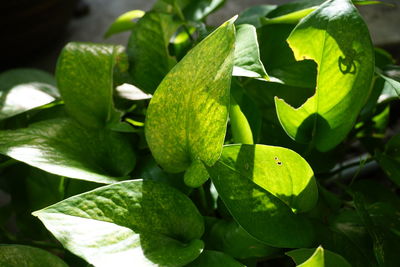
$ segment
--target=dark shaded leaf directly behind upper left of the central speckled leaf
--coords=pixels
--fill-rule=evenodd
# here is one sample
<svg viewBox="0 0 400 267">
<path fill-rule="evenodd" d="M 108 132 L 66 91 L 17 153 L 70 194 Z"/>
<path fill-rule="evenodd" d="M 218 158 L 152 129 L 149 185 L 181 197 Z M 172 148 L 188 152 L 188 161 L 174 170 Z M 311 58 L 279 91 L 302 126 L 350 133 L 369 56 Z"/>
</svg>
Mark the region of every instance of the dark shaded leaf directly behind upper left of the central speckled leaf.
<svg viewBox="0 0 400 267">
<path fill-rule="evenodd" d="M 168 14 L 148 12 L 133 28 L 127 47 L 129 73 L 141 90 L 153 93 L 176 64 L 168 45 L 178 26 Z"/>
</svg>

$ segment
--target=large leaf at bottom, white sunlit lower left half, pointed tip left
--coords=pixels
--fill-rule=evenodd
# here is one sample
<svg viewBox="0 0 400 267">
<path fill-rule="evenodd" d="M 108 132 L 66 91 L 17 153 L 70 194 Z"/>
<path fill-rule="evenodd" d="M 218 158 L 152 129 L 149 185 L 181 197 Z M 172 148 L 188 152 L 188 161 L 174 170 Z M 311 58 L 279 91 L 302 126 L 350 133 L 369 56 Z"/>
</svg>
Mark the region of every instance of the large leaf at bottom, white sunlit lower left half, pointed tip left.
<svg viewBox="0 0 400 267">
<path fill-rule="evenodd" d="M 203 218 L 162 183 L 125 181 L 36 211 L 71 252 L 95 266 L 182 266 L 203 250 Z"/>
</svg>

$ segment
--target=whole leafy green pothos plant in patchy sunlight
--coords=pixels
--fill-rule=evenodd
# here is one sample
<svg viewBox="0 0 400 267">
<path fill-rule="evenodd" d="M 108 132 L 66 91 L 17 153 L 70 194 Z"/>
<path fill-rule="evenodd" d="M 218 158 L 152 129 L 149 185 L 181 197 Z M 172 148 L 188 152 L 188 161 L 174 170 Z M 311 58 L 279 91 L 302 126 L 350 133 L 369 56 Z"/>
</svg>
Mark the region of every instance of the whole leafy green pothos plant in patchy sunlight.
<svg viewBox="0 0 400 267">
<path fill-rule="evenodd" d="M 1 266 L 398 266 L 399 67 L 354 6 L 377 1 L 205 24 L 223 2 L 0 75 Z"/>
</svg>

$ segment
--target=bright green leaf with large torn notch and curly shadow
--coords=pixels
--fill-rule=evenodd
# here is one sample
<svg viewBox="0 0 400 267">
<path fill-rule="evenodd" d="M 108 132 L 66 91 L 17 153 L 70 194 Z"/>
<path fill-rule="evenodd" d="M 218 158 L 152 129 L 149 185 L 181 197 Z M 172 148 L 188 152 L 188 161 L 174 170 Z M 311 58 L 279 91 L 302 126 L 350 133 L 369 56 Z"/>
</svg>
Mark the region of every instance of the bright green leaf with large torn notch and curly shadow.
<svg viewBox="0 0 400 267">
<path fill-rule="evenodd" d="M 351 1 L 330 0 L 288 42 L 297 60 L 317 62 L 317 88 L 299 108 L 276 98 L 279 120 L 294 140 L 328 151 L 346 137 L 369 95 L 374 51 L 368 29 Z"/>
</svg>

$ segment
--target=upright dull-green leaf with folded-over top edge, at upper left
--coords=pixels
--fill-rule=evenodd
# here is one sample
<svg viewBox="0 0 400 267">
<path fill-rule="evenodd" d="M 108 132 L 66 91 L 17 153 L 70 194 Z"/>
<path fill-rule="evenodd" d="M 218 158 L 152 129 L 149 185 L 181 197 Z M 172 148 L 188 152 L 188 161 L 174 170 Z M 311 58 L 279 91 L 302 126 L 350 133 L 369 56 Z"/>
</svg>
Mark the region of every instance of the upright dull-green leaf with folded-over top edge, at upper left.
<svg viewBox="0 0 400 267">
<path fill-rule="evenodd" d="M 58 58 L 56 78 L 71 117 L 103 128 L 119 118 L 113 105 L 113 70 L 122 47 L 69 43 Z"/>
</svg>

